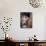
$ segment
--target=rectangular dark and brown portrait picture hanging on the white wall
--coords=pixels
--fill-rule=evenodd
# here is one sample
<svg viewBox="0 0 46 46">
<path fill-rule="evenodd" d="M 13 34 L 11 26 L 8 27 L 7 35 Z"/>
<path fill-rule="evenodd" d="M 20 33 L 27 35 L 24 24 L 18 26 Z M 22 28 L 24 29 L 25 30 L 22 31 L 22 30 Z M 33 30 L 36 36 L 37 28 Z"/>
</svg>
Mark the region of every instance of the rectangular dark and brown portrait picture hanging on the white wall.
<svg viewBox="0 0 46 46">
<path fill-rule="evenodd" d="M 20 12 L 20 27 L 32 28 L 32 12 Z"/>
</svg>

